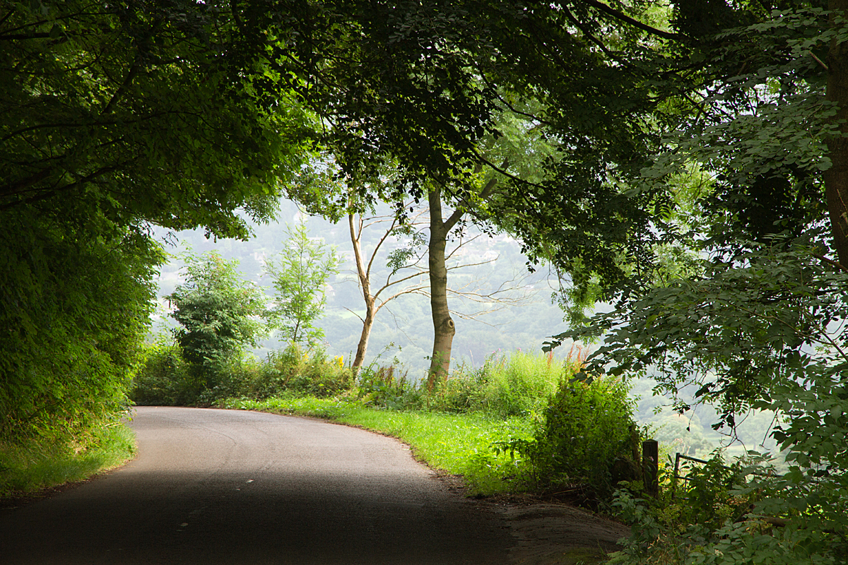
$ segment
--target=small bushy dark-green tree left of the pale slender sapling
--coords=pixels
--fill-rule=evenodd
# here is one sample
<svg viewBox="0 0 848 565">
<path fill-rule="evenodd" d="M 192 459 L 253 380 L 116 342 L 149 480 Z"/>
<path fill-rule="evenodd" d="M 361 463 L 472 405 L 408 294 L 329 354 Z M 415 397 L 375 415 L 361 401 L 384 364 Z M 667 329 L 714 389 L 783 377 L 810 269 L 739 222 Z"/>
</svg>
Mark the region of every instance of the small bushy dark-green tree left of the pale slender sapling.
<svg viewBox="0 0 848 565">
<path fill-rule="evenodd" d="M 265 295 L 242 280 L 235 260 L 217 252 L 182 255 L 186 280 L 168 296 L 170 314 L 182 326 L 174 330 L 182 356 L 191 363 L 200 381 L 215 385 L 215 371 L 245 344 L 255 345 L 265 331 L 259 316 L 265 313 Z"/>
</svg>

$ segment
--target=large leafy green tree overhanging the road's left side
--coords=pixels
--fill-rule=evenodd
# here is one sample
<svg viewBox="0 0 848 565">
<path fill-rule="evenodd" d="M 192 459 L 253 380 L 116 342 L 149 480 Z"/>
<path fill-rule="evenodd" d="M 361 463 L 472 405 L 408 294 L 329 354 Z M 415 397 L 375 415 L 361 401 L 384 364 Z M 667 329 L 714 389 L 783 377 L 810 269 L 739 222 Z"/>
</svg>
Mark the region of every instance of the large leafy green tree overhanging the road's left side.
<svg viewBox="0 0 848 565">
<path fill-rule="evenodd" d="M 298 160 L 304 115 L 252 88 L 248 6 L 224 7 L 0 2 L 5 437 L 119 411 L 163 260 L 148 225 L 244 237 L 236 210 L 267 216 Z"/>
</svg>

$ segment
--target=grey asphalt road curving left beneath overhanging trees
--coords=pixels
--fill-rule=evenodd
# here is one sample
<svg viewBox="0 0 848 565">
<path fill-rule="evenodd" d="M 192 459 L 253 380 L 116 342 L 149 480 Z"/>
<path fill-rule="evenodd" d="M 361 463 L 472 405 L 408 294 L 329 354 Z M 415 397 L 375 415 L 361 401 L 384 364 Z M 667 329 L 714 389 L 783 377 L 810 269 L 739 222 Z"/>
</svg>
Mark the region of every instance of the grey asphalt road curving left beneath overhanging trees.
<svg viewBox="0 0 848 565">
<path fill-rule="evenodd" d="M 0 510 L 0 562 L 503 563 L 510 535 L 396 440 L 274 414 L 140 407 L 135 461 Z"/>
</svg>

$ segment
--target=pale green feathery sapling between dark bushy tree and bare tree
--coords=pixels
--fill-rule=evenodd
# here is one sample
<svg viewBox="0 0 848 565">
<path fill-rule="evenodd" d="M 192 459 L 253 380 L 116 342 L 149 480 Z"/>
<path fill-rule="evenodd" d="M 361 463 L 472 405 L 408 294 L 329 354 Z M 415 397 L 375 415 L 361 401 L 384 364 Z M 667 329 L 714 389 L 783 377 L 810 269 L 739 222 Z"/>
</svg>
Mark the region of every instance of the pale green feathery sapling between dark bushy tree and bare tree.
<svg viewBox="0 0 848 565">
<path fill-rule="evenodd" d="M 304 220 L 287 229 L 287 235 L 283 251 L 265 264 L 276 290 L 269 315 L 284 339 L 311 346 L 324 335 L 313 324 L 324 313 L 326 284 L 331 274 L 338 273 L 339 259 L 335 249 L 310 240 Z"/>
</svg>

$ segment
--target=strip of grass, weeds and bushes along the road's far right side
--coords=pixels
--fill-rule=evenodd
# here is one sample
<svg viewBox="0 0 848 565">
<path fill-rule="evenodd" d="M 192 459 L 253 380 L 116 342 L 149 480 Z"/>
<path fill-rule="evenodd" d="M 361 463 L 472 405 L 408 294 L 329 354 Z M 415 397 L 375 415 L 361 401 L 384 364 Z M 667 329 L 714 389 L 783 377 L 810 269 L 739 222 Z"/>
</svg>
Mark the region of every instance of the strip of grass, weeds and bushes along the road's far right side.
<svg viewBox="0 0 848 565">
<path fill-rule="evenodd" d="M 327 418 L 393 435 L 432 468 L 461 474 L 471 493 L 569 493 L 598 507 L 616 479 L 640 478 L 633 402 L 619 379 L 574 379 L 579 350 L 493 355 L 455 368 L 432 389 L 393 364 L 353 369 L 342 357 L 291 345 L 221 367 L 198 388 L 175 345 L 148 349 L 131 397 Z M 621 477 L 616 476 L 621 474 Z"/>
</svg>

